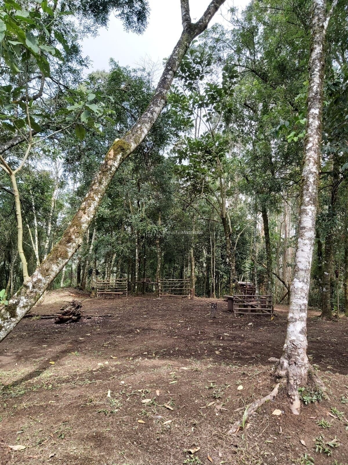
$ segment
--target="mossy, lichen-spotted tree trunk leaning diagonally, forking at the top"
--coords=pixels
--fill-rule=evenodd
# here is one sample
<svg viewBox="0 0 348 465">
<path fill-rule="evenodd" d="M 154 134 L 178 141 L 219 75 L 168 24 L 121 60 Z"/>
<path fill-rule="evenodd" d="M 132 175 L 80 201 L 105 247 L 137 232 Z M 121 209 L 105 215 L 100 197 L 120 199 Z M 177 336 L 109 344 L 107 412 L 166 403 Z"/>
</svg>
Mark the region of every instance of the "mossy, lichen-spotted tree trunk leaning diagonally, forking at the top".
<svg viewBox="0 0 348 465">
<path fill-rule="evenodd" d="M 27 279 L 19 291 L 9 300 L 8 306 L 0 308 L 0 341 L 13 330 L 17 323 L 38 301 L 47 286 L 82 244 L 104 193 L 120 164 L 144 140 L 166 102 L 168 90 L 181 60 L 191 41 L 202 33 L 225 0 L 212 0 L 202 17 L 191 23 L 188 0 L 181 0 L 183 31 L 172 54 L 166 62 L 161 79 L 147 109 L 122 139 L 116 139 L 106 154 L 95 178 L 90 185 L 80 208 L 64 231 L 62 238 L 52 248 L 50 254 Z"/>
</svg>

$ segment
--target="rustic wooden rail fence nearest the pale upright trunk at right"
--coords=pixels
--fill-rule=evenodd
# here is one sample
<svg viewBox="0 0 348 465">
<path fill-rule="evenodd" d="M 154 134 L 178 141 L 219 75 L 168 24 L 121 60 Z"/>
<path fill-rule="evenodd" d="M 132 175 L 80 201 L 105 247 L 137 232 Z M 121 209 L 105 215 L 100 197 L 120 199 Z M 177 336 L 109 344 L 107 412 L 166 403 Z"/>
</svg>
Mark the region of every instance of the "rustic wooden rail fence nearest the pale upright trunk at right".
<svg viewBox="0 0 348 465">
<path fill-rule="evenodd" d="M 225 295 L 227 309 L 234 313 L 234 316 L 245 313 L 254 315 L 273 315 L 271 295 Z"/>
</svg>

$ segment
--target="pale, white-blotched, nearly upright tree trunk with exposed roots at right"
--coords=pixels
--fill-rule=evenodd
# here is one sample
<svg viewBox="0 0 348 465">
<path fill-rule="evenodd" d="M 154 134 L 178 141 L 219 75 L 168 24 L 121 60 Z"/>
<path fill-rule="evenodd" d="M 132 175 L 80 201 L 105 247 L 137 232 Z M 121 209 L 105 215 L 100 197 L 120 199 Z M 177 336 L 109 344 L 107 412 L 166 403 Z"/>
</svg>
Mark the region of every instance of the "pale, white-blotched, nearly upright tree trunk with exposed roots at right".
<svg viewBox="0 0 348 465">
<path fill-rule="evenodd" d="M 324 75 L 324 44 L 329 16 L 326 2 L 313 0 L 311 49 L 309 56 L 309 87 L 307 124 L 304 141 L 301 205 L 294 275 L 284 351 L 277 367 L 277 376 L 288 380 L 287 392 L 293 413 L 300 412 L 298 388 L 307 385 L 311 372 L 307 358 L 307 305 L 312 254 L 315 239 L 320 164 L 322 94 Z"/>
</svg>

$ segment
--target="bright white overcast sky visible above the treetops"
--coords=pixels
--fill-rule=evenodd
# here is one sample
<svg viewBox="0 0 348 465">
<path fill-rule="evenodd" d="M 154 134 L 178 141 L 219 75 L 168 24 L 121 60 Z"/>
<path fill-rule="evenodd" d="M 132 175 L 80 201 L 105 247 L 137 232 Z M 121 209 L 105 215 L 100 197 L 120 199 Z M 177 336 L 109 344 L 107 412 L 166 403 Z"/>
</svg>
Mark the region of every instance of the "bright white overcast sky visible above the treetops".
<svg viewBox="0 0 348 465">
<path fill-rule="evenodd" d="M 190 0 L 191 19 L 198 20 L 210 0 Z M 236 6 L 239 11 L 249 0 L 226 0 L 210 22 L 209 26 L 219 22 L 228 26 L 223 16 L 228 16 L 228 7 Z M 113 58 L 121 66 L 136 66 L 142 59 L 162 62 L 170 55 L 179 40 L 182 26 L 180 0 L 149 0 L 150 18 L 148 27 L 142 35 L 127 33 L 121 20 L 113 15 L 108 28 L 101 28 L 97 37 L 89 37 L 82 42 L 83 55 L 92 61 L 89 71 L 109 69 L 109 60 Z"/>
</svg>

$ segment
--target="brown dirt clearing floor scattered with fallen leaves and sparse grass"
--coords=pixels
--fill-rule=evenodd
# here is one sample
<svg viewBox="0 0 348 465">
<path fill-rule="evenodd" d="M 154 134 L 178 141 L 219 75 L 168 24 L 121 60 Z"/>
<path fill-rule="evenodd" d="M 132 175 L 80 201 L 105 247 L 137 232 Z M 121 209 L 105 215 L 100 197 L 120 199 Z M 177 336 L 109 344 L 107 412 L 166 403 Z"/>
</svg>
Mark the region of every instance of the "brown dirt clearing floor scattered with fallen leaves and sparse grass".
<svg viewBox="0 0 348 465">
<path fill-rule="evenodd" d="M 32 314 L 55 314 L 76 297 L 84 296 L 49 292 Z M 70 325 L 23 319 L 0 344 L 0 463 L 312 464 L 305 453 L 316 465 L 348 463 L 348 319 L 309 311 L 309 355 L 329 400 L 293 416 L 281 390 L 244 431 L 227 435 L 245 405 L 275 385 L 268 359 L 281 355 L 287 309 L 277 307 L 273 320 L 234 318 L 219 300 L 211 320 L 211 301 L 86 299 L 84 315 L 100 316 Z M 315 452 L 315 441 L 332 440 L 332 456 Z"/>
</svg>

